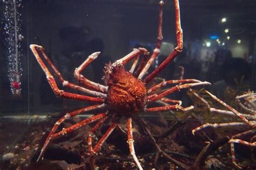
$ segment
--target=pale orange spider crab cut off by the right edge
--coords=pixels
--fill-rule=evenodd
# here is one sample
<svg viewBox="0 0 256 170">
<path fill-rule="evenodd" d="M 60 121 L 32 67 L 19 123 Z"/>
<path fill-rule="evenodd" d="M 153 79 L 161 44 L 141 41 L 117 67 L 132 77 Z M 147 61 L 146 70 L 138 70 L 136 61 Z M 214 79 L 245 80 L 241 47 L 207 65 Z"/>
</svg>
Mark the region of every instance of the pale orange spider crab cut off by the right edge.
<svg viewBox="0 0 256 170">
<path fill-rule="evenodd" d="M 195 93 L 193 90 L 189 89 L 190 92 L 196 96 L 210 112 L 214 112 L 216 114 L 221 114 L 221 115 L 227 115 L 227 116 L 236 116 L 241 119 L 242 122 L 230 122 L 230 123 L 206 123 L 204 125 L 199 126 L 196 129 L 192 130 L 192 133 L 194 134 L 195 132 L 202 130 L 208 126 L 211 126 L 213 128 L 221 128 L 221 127 L 227 127 L 227 126 L 248 126 L 250 130 L 247 130 L 245 132 L 241 132 L 238 134 L 234 134 L 231 136 L 231 139 L 228 141 L 230 143 L 231 147 L 231 157 L 232 157 L 232 162 L 235 166 L 238 168 L 242 168 L 239 166 L 236 161 L 235 161 L 235 150 L 234 150 L 234 143 L 238 143 L 241 145 L 246 145 L 246 146 L 252 146 L 256 147 L 256 94 L 249 91 L 248 93 L 245 93 L 244 95 L 237 96 L 235 97 L 235 101 L 240 105 L 242 109 L 247 111 L 249 114 L 241 114 L 239 111 L 235 110 L 232 108 L 230 105 L 226 104 L 225 102 L 221 101 L 219 98 L 211 94 L 210 92 L 206 91 L 208 95 L 210 95 L 215 101 L 223 105 L 225 108 L 228 110 L 220 110 L 220 109 L 215 109 L 212 108 L 204 98 L 199 96 L 197 93 Z M 239 138 L 242 138 L 246 135 L 251 135 L 251 141 L 245 141 L 241 140 Z M 253 152 L 253 151 L 252 151 Z"/>
</svg>

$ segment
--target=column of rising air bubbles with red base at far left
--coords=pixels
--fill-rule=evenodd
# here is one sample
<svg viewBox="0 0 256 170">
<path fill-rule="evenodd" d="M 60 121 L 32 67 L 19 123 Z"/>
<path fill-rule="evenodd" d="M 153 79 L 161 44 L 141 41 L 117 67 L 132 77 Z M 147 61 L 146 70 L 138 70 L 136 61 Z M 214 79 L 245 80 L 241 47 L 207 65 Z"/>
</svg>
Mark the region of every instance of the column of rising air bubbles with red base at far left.
<svg viewBox="0 0 256 170">
<path fill-rule="evenodd" d="M 12 94 L 21 94 L 21 13 L 22 0 L 3 1 L 3 25 L 5 33 L 8 77 Z"/>
</svg>

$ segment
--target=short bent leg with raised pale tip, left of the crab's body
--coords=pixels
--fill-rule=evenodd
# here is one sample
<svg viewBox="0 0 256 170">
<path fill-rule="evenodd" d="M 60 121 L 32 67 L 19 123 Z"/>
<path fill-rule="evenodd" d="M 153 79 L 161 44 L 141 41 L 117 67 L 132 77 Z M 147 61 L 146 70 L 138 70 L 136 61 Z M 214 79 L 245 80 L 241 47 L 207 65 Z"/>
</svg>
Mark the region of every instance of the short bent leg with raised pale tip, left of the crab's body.
<svg viewBox="0 0 256 170">
<path fill-rule="evenodd" d="M 97 90 L 97 91 L 101 91 L 103 93 L 106 93 L 107 92 L 107 87 L 106 86 L 103 86 L 102 84 L 99 84 L 99 83 L 95 83 L 95 82 L 92 82 L 88 79 L 86 79 L 82 74 L 81 72 L 88 66 L 90 65 L 90 63 L 97 59 L 97 57 L 99 56 L 100 52 L 95 52 L 95 53 L 92 53 L 91 55 L 88 56 L 88 58 L 82 63 L 82 65 L 80 65 L 78 68 L 75 69 L 75 72 L 74 72 L 74 76 L 76 77 L 76 79 L 82 83 L 85 87 L 88 87 L 88 88 L 91 88 L 91 89 L 94 89 L 94 90 Z"/>
</svg>

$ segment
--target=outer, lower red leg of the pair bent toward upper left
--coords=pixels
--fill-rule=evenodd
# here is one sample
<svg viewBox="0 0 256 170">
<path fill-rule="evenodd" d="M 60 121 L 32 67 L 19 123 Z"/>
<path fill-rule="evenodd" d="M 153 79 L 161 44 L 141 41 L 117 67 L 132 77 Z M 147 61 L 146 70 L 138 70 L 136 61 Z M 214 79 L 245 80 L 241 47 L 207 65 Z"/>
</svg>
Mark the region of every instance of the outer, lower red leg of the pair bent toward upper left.
<svg viewBox="0 0 256 170">
<path fill-rule="evenodd" d="M 30 48 L 33 52 L 33 54 L 35 55 L 39 65 L 42 67 L 45 75 L 46 75 L 46 79 L 48 80 L 53 92 L 57 95 L 57 96 L 62 96 L 65 98 L 72 98 L 72 99 L 76 99 L 76 100 L 82 100 L 82 101 L 88 101 L 88 102 L 98 102 L 98 103 L 102 103 L 104 102 L 104 98 L 99 98 L 99 97 L 90 97 L 90 96 L 85 96 L 85 95 L 79 95 L 79 94 L 74 94 L 74 93 L 68 93 L 64 90 L 60 90 L 57 86 L 57 83 L 55 81 L 55 78 L 52 76 L 52 74 L 50 73 L 49 69 L 45 66 L 43 60 L 40 58 L 38 52 L 37 52 L 37 48 L 41 51 L 44 52 L 44 49 L 42 46 L 37 46 L 37 45 L 30 45 Z M 50 60 L 48 60 L 49 63 Z M 60 73 L 58 72 L 58 70 L 55 68 L 55 66 L 51 65 L 52 68 L 55 70 L 56 73 L 58 73 L 58 77 L 60 80 L 62 80 L 63 82 L 65 82 L 62 78 L 62 76 L 60 75 Z"/>
</svg>

